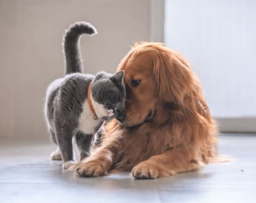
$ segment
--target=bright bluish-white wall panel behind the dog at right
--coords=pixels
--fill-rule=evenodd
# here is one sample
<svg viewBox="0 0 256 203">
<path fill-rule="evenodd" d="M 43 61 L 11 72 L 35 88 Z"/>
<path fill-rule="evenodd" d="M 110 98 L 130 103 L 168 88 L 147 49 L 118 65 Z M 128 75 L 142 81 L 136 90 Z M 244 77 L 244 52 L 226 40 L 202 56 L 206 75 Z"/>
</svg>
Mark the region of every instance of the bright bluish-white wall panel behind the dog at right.
<svg viewBox="0 0 256 203">
<path fill-rule="evenodd" d="M 165 1 L 165 43 L 190 61 L 215 117 L 256 117 L 256 2 Z"/>
</svg>

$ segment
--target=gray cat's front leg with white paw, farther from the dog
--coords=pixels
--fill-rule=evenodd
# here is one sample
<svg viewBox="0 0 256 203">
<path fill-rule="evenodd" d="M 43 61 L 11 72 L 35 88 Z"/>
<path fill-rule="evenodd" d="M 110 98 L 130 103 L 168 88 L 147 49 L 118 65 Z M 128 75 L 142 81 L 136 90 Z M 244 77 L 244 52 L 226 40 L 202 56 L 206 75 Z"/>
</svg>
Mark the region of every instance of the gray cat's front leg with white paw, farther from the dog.
<svg viewBox="0 0 256 203">
<path fill-rule="evenodd" d="M 56 131 L 56 138 L 64 162 L 62 168 L 67 169 L 76 163 L 73 153 L 72 131 L 58 129 Z"/>
</svg>

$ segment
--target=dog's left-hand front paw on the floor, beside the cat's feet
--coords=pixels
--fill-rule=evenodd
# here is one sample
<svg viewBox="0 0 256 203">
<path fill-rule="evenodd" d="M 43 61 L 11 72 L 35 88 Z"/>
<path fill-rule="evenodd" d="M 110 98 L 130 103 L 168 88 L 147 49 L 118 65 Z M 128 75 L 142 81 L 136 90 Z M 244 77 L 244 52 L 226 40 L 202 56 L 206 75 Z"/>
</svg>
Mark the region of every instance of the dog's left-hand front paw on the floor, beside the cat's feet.
<svg viewBox="0 0 256 203">
<path fill-rule="evenodd" d="M 100 175 L 106 175 L 108 172 L 105 170 L 104 163 L 101 161 L 93 160 L 86 163 L 81 163 L 76 172 L 84 177 L 97 177 Z"/>
</svg>

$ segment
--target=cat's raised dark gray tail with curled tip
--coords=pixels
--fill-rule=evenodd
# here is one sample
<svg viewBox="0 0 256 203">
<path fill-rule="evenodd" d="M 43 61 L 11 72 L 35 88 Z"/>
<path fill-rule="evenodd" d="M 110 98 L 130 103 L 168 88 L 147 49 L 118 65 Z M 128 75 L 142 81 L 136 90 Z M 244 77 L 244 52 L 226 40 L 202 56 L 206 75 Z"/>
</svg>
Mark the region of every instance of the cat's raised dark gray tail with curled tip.
<svg viewBox="0 0 256 203">
<path fill-rule="evenodd" d="M 95 35 L 97 30 L 92 24 L 84 21 L 75 22 L 63 36 L 63 54 L 66 59 L 65 74 L 82 72 L 79 38 L 82 34 Z"/>
</svg>

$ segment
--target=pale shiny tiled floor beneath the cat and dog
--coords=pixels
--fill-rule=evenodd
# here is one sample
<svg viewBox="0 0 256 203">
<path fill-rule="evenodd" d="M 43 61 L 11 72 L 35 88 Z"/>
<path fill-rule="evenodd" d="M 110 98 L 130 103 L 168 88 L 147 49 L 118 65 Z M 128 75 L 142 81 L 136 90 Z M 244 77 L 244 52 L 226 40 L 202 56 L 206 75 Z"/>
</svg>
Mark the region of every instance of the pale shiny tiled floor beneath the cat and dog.
<svg viewBox="0 0 256 203">
<path fill-rule="evenodd" d="M 220 154 L 236 159 L 156 180 L 129 173 L 97 178 L 62 171 L 53 144 L 0 143 L 0 202 L 256 202 L 256 135 L 220 136 Z"/>
</svg>

